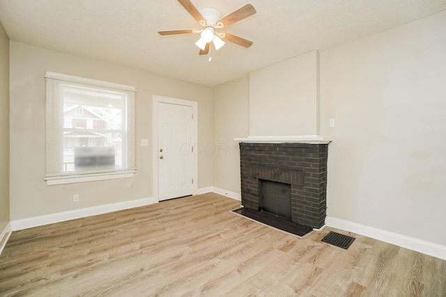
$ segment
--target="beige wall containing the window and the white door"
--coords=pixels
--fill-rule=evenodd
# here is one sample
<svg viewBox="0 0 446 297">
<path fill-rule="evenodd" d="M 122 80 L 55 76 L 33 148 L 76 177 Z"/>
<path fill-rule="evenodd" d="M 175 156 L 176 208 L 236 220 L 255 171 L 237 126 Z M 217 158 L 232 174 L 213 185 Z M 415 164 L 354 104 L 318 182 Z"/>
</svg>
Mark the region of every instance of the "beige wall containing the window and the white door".
<svg viewBox="0 0 446 297">
<path fill-rule="evenodd" d="M 153 195 L 152 96 L 199 102 L 199 142 L 212 139 L 212 88 L 109 63 L 60 54 L 17 42 L 10 45 L 11 220 L 124 202 Z M 137 88 L 137 174 L 134 178 L 47 186 L 45 172 L 45 72 L 123 83 Z M 199 154 L 199 188 L 212 185 L 213 156 Z M 79 194 L 79 202 L 72 195 Z"/>
</svg>

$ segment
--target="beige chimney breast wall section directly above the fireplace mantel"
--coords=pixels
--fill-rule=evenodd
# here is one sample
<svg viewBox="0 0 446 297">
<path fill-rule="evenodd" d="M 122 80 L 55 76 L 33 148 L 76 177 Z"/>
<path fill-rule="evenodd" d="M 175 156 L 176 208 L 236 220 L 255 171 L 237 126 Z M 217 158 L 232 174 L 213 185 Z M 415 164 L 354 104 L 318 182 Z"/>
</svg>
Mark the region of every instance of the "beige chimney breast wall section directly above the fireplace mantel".
<svg viewBox="0 0 446 297">
<path fill-rule="evenodd" d="M 319 134 L 318 51 L 249 73 L 249 136 Z"/>
</svg>

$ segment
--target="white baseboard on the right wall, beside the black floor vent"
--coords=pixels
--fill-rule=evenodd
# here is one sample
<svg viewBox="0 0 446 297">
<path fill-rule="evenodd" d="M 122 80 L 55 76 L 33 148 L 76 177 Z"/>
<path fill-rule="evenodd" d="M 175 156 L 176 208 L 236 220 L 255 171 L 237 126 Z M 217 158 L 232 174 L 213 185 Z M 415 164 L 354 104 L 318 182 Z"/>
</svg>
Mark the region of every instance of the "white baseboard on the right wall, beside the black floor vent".
<svg viewBox="0 0 446 297">
<path fill-rule="evenodd" d="M 402 248 L 408 248 L 409 250 L 415 250 L 416 252 L 422 252 L 423 254 L 446 260 L 446 246 L 440 246 L 436 243 L 423 241 L 421 239 L 416 239 L 410 236 L 388 232 L 386 230 L 381 230 L 366 225 L 360 225 L 348 220 L 332 218 L 329 216 L 325 218 L 325 225 L 327 225 L 328 227 L 334 227 L 348 232 L 368 236 L 380 241 L 392 243 L 395 246 L 401 246 Z"/>
</svg>

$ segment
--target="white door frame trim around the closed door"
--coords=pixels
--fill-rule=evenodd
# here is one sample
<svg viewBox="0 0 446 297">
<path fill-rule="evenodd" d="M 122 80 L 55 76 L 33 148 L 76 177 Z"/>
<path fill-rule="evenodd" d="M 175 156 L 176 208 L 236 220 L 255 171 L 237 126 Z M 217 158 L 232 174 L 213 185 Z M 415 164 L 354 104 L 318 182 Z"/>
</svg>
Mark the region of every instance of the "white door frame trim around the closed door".
<svg viewBox="0 0 446 297">
<path fill-rule="evenodd" d="M 194 150 L 194 154 L 192 157 L 194 160 L 192 161 L 192 177 L 194 179 L 194 183 L 192 184 L 192 195 L 197 195 L 198 189 L 198 154 L 197 154 L 197 142 L 198 142 L 198 102 L 176 99 L 170 97 L 163 97 L 158 95 L 153 95 L 153 105 L 152 105 L 152 127 L 153 127 L 153 147 L 152 147 L 152 160 L 153 160 L 153 200 L 155 203 L 160 202 L 160 193 L 158 186 L 158 113 L 159 108 L 158 105 L 160 103 L 167 104 L 176 104 L 183 106 L 192 107 L 192 150 Z"/>
</svg>

